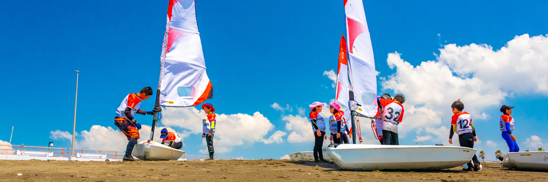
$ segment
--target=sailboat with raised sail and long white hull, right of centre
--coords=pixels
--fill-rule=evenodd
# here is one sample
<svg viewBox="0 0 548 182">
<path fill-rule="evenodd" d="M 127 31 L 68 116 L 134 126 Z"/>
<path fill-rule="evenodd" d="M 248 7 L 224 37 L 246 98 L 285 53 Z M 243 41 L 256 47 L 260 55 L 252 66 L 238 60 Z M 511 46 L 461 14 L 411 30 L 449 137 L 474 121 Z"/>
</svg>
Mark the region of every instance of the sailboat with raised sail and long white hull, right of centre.
<svg viewBox="0 0 548 182">
<path fill-rule="evenodd" d="M 356 144 L 356 117 L 380 119 L 374 117 L 376 71 L 363 2 L 344 0 L 344 7 L 348 41 L 341 38 L 335 101 L 350 110 L 344 117 L 351 118 L 353 144 L 330 145 L 326 149 L 329 158 L 352 170 L 432 170 L 470 162 L 476 150 L 467 147 Z"/>
</svg>

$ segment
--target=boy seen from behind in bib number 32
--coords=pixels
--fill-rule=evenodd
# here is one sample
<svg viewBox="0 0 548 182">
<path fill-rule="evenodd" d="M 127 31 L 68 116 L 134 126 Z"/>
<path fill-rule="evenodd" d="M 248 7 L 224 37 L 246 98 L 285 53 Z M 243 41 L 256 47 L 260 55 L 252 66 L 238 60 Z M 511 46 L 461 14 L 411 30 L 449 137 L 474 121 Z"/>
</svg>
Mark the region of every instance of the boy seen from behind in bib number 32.
<svg viewBox="0 0 548 182">
<path fill-rule="evenodd" d="M 379 99 L 381 106 L 384 107 L 383 115 L 383 143 L 384 145 L 399 145 L 398 124 L 403 120 L 403 103 L 406 97 L 402 94 L 396 94 L 394 99 Z"/>
</svg>

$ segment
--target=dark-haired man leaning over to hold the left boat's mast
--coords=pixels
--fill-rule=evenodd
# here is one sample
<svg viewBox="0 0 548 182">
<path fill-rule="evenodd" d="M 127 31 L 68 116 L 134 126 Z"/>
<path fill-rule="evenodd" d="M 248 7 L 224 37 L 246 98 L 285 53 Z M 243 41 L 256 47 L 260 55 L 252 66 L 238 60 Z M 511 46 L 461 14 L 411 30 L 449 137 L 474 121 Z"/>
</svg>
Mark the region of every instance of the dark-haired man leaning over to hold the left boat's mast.
<svg viewBox="0 0 548 182">
<path fill-rule="evenodd" d="M 137 143 L 137 139 L 140 138 L 139 129 L 141 129 L 141 124 L 133 118 L 133 115 L 135 113 L 140 115 L 154 115 L 154 112 L 152 111 L 143 111 L 139 109 L 141 107 L 141 101 L 149 99 L 151 95 L 152 88 L 150 87 L 141 89 L 141 92 L 137 94 L 128 94 L 116 110 L 114 125 L 116 125 L 129 140 L 128 146 L 125 149 L 125 155 L 122 158 L 124 161 L 136 161 L 132 156 L 132 151 Z"/>
</svg>

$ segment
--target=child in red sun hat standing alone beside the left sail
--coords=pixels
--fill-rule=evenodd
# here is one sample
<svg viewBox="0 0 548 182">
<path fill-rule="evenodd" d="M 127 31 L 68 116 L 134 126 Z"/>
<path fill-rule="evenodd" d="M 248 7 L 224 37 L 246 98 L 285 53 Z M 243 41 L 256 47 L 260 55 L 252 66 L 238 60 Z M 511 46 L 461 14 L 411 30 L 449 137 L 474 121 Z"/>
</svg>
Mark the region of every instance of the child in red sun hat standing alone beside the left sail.
<svg viewBox="0 0 548 182">
<path fill-rule="evenodd" d="M 202 120 L 202 138 L 206 138 L 207 149 L 209 151 L 209 158 L 207 160 L 213 160 L 213 134 L 215 134 L 216 115 L 215 107 L 212 104 L 203 104 L 202 109 L 206 111 L 207 116 Z"/>
</svg>

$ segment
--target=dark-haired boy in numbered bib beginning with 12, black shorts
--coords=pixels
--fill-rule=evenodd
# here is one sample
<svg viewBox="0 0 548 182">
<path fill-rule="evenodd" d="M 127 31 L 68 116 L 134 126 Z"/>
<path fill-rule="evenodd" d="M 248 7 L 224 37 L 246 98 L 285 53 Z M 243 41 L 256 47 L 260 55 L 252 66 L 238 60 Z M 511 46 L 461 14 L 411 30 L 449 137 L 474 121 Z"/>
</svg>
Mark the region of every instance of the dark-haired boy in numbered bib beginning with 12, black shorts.
<svg viewBox="0 0 548 182">
<path fill-rule="evenodd" d="M 453 134 L 456 133 L 459 135 L 459 144 L 463 147 L 474 147 L 474 142 L 478 140 L 476 136 L 476 130 L 474 129 L 474 124 L 472 123 L 472 117 L 468 112 L 463 112 L 464 104 L 459 100 L 456 100 L 451 104 L 451 109 L 453 110 L 453 117 L 451 118 L 451 129 L 449 130 L 449 144 L 453 144 Z M 473 163 L 472 163 L 473 162 Z M 478 171 L 482 169 L 481 164 L 479 164 L 478 157 L 476 154 L 472 157 L 472 161 L 467 163 L 468 168 L 464 169 L 466 171 L 473 170 Z"/>
</svg>

